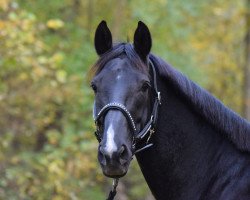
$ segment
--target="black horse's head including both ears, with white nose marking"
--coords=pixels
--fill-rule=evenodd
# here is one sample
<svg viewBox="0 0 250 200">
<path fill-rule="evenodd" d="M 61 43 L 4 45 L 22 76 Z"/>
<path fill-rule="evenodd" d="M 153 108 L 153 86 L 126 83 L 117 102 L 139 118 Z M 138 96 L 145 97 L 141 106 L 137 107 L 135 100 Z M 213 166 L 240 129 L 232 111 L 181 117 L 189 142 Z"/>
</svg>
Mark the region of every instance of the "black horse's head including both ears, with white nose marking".
<svg viewBox="0 0 250 200">
<path fill-rule="evenodd" d="M 99 60 L 91 87 L 98 160 L 104 175 L 118 178 L 127 173 L 138 150 L 138 136 L 145 136 L 152 126 L 149 29 L 139 22 L 133 45 L 113 45 L 111 32 L 102 21 L 96 29 L 95 49 Z"/>
</svg>

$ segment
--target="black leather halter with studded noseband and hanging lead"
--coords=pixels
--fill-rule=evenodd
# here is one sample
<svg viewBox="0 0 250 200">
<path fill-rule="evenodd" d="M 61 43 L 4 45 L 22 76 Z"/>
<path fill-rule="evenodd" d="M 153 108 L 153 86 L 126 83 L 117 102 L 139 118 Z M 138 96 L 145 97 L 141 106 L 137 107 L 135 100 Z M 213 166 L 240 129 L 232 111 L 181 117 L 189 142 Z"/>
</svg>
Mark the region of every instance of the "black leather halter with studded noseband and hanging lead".
<svg viewBox="0 0 250 200">
<path fill-rule="evenodd" d="M 134 131 L 133 141 L 132 141 L 132 154 L 135 155 L 135 154 L 153 146 L 153 143 L 152 142 L 149 143 L 149 141 L 150 141 L 150 138 L 152 137 L 153 133 L 155 133 L 156 121 L 157 121 L 157 117 L 158 117 L 158 109 L 159 109 L 159 105 L 161 105 L 161 93 L 158 91 L 158 87 L 157 87 L 156 70 L 155 70 L 153 62 L 150 59 L 148 60 L 148 68 L 149 69 L 151 68 L 151 71 L 153 74 L 153 76 L 151 78 L 152 79 L 151 84 L 153 85 L 152 90 L 154 93 L 154 104 L 153 104 L 152 113 L 151 113 L 150 118 L 147 121 L 146 125 L 144 126 L 144 128 L 142 130 L 140 130 L 137 133 L 135 121 L 125 105 L 123 105 L 121 103 L 117 103 L 117 102 L 108 103 L 96 115 L 95 103 L 94 103 L 93 118 L 94 118 L 94 121 L 96 124 L 95 136 L 96 136 L 96 139 L 98 140 L 99 143 L 102 141 L 102 137 L 101 137 L 102 130 L 100 128 L 100 125 L 101 125 L 100 119 L 103 118 L 103 120 L 104 120 L 104 117 L 109 110 L 119 110 L 126 117 L 130 127 Z M 146 137 L 147 137 L 147 139 L 145 141 L 144 139 Z M 143 141 L 145 141 L 145 144 L 142 147 L 138 147 L 139 143 L 142 143 Z M 133 158 L 133 156 L 132 156 L 132 158 Z M 118 181 L 119 181 L 118 178 L 113 179 L 112 190 L 109 192 L 109 196 L 108 196 L 107 200 L 114 199 L 114 197 L 116 195 L 116 187 L 118 185 Z"/>
</svg>

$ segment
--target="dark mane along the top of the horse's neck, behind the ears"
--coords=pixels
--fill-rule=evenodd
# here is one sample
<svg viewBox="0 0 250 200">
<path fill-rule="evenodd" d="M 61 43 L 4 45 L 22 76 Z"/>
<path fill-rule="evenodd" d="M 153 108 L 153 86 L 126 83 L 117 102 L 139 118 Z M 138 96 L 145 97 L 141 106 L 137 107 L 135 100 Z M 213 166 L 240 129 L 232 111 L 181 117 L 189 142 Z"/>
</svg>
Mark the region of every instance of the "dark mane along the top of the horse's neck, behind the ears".
<svg viewBox="0 0 250 200">
<path fill-rule="evenodd" d="M 224 134 L 241 151 L 250 152 L 250 123 L 222 104 L 181 72 L 161 58 L 150 54 L 150 60 L 174 89 L 208 123 Z"/>
</svg>

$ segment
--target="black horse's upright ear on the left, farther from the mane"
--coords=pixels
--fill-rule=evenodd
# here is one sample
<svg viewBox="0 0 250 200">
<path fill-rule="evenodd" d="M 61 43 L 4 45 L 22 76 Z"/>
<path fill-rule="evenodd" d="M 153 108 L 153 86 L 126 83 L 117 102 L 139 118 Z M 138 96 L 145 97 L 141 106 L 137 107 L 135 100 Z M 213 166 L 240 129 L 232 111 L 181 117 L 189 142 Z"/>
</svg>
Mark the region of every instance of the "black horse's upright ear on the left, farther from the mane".
<svg viewBox="0 0 250 200">
<path fill-rule="evenodd" d="M 112 35 L 107 26 L 107 23 L 103 20 L 97 26 L 95 31 L 95 50 L 100 56 L 112 48 Z"/>
</svg>

